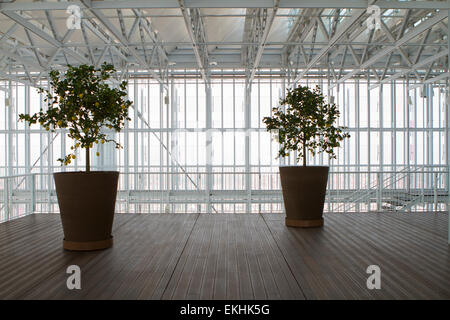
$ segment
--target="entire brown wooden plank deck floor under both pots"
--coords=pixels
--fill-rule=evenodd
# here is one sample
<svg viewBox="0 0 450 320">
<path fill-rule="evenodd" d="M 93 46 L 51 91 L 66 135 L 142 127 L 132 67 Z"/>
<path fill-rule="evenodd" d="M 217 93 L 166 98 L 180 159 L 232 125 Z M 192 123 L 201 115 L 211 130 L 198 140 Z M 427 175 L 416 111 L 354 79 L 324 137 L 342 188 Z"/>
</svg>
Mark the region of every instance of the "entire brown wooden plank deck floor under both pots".
<svg viewBox="0 0 450 320">
<path fill-rule="evenodd" d="M 450 299 L 446 214 L 117 215 L 114 248 L 62 249 L 58 215 L 0 224 L 0 299 Z M 81 290 L 68 290 L 69 265 Z M 367 266 L 381 289 L 366 287 Z"/>
</svg>

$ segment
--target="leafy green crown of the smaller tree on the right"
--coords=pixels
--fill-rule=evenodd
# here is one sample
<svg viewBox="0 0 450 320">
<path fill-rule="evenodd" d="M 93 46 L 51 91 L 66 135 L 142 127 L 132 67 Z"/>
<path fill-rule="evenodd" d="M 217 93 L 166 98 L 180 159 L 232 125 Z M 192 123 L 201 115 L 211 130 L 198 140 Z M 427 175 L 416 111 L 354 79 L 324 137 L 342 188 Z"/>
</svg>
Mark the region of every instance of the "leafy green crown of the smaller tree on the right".
<svg viewBox="0 0 450 320">
<path fill-rule="evenodd" d="M 286 106 L 283 111 L 283 106 Z M 268 131 L 278 131 L 280 143 L 279 157 L 297 151 L 297 162 L 303 158 L 306 165 L 306 153 L 326 152 L 336 158 L 334 148 L 350 135 L 345 127 L 335 125 L 339 110 L 334 103 L 326 103 L 320 88 L 308 87 L 288 89 L 286 98 L 280 100 L 280 106 L 272 109 L 273 116 L 265 117 L 263 122 Z"/>
</svg>

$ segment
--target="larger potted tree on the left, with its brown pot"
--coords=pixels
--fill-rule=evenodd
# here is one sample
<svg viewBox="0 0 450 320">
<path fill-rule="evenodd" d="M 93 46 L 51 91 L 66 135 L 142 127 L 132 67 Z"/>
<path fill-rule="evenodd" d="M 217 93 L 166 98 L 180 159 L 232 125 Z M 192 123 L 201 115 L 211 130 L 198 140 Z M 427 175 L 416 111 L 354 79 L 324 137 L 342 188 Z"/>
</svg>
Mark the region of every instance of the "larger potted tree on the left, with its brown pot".
<svg viewBox="0 0 450 320">
<path fill-rule="evenodd" d="M 61 165 L 69 165 L 79 149 L 86 153 L 86 171 L 53 174 L 64 230 L 63 247 L 67 250 L 99 250 L 113 244 L 119 172 L 91 171 L 90 159 L 94 144 L 110 142 L 121 148 L 101 130 L 103 127 L 120 132 L 130 120 L 128 108 L 132 102 L 126 99 L 127 83 L 111 86 L 114 72 L 114 67 L 106 63 L 100 68 L 68 65 L 64 74 L 53 70 L 49 74 L 51 89 L 38 89 L 45 95 L 47 110 L 19 115 L 30 126 L 39 122 L 47 131 L 67 130 L 73 145 L 69 154 L 58 159 Z"/>
</svg>

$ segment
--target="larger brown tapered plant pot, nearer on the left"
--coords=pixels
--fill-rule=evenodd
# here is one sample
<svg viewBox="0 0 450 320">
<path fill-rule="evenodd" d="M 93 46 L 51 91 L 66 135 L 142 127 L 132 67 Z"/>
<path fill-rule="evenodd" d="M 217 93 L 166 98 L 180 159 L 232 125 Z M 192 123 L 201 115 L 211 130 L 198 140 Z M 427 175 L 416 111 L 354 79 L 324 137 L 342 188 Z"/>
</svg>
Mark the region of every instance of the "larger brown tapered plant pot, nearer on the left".
<svg viewBox="0 0 450 320">
<path fill-rule="evenodd" d="M 119 172 L 60 172 L 53 177 L 64 249 L 90 251 L 111 247 Z"/>
</svg>

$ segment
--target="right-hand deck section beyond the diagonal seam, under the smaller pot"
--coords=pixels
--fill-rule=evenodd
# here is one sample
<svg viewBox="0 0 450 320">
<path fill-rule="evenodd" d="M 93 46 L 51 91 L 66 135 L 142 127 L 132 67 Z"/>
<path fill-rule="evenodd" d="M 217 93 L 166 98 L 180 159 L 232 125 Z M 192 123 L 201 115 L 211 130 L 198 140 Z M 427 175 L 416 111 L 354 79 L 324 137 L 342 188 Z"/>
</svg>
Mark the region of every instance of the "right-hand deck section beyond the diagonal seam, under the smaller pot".
<svg viewBox="0 0 450 320">
<path fill-rule="evenodd" d="M 308 299 L 449 298 L 444 234 L 410 224 L 410 215 L 327 214 L 319 229 L 286 228 L 281 216 L 266 221 Z M 370 264 L 382 269 L 382 290 L 365 287 Z"/>
</svg>

